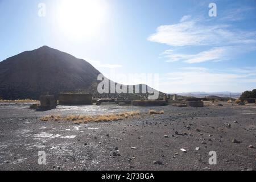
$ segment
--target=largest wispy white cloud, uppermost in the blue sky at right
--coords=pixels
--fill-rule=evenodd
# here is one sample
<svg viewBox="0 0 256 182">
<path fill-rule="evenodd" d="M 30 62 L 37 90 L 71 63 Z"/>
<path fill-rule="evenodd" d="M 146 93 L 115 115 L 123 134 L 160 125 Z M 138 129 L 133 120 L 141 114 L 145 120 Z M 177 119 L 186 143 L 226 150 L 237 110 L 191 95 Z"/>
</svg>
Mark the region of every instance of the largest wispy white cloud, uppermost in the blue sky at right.
<svg viewBox="0 0 256 182">
<path fill-rule="evenodd" d="M 228 46 L 256 43 L 256 32 L 235 30 L 228 24 L 207 26 L 200 20 L 188 20 L 188 16 L 183 16 L 181 20 L 177 24 L 159 26 L 148 40 L 169 46 Z"/>
</svg>

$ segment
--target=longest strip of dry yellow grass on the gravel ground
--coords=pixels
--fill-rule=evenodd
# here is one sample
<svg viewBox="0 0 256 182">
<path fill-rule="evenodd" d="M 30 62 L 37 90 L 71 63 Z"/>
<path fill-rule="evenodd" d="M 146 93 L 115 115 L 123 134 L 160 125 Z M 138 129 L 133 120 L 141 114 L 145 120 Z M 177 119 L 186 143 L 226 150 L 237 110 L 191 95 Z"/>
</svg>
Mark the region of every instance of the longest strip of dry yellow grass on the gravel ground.
<svg viewBox="0 0 256 182">
<path fill-rule="evenodd" d="M 106 115 L 68 115 L 67 117 L 61 117 L 60 115 L 48 115 L 40 118 L 41 121 L 73 121 L 74 123 L 88 123 L 88 122 L 109 122 L 109 121 L 120 121 L 125 118 L 135 117 L 140 115 L 140 111 L 130 111 L 119 114 L 106 114 Z"/>
</svg>

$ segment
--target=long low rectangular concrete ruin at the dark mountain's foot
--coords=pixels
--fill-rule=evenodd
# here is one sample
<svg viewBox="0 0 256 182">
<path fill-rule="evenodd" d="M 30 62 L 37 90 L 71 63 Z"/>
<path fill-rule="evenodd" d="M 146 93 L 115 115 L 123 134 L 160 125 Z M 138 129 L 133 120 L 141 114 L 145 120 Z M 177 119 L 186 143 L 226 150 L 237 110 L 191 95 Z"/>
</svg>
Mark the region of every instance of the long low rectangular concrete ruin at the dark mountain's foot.
<svg viewBox="0 0 256 182">
<path fill-rule="evenodd" d="M 92 94 L 59 94 L 59 105 L 92 105 Z"/>
</svg>

